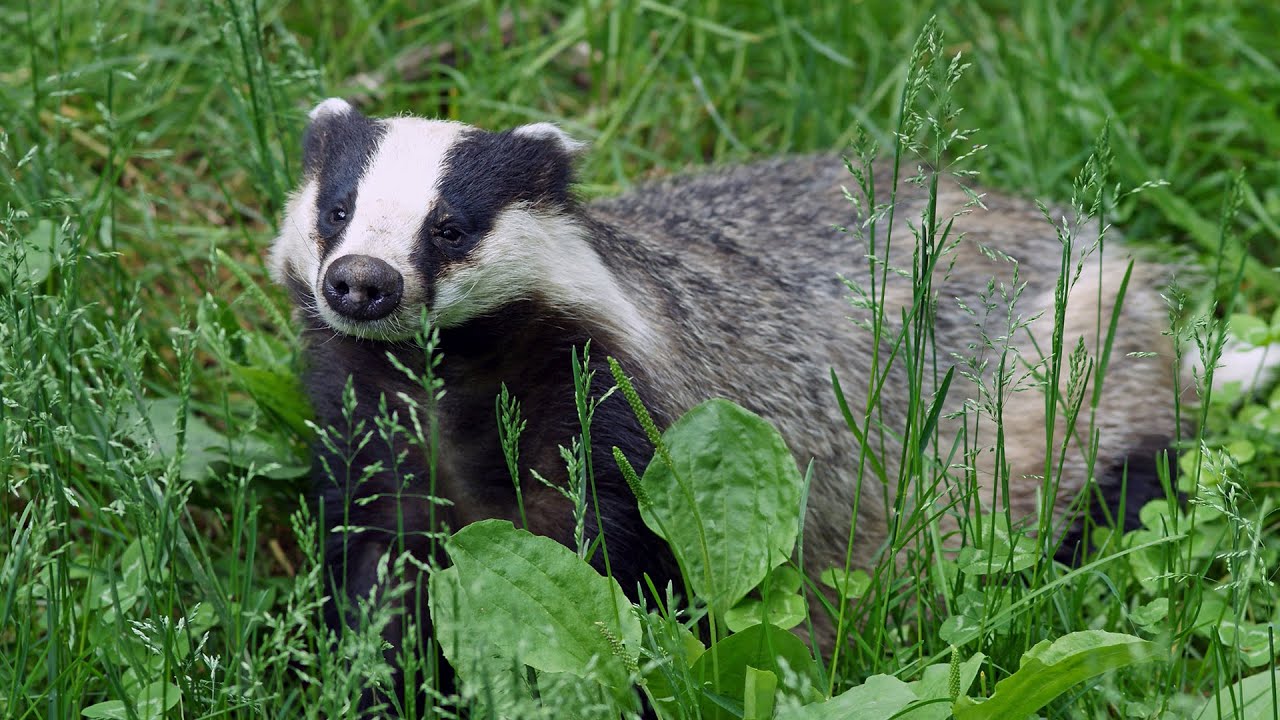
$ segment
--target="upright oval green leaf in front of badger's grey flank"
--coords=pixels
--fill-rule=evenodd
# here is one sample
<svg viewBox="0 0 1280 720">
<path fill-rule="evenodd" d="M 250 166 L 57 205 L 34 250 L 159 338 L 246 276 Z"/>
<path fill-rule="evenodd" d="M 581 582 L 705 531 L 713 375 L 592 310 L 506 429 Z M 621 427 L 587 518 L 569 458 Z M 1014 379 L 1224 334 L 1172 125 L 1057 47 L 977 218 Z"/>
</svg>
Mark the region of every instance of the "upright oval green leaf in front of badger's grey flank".
<svg viewBox="0 0 1280 720">
<path fill-rule="evenodd" d="M 644 521 L 684 560 L 692 591 L 723 615 L 791 556 L 801 477 L 764 419 L 709 400 L 663 433 L 641 486 Z"/>
</svg>

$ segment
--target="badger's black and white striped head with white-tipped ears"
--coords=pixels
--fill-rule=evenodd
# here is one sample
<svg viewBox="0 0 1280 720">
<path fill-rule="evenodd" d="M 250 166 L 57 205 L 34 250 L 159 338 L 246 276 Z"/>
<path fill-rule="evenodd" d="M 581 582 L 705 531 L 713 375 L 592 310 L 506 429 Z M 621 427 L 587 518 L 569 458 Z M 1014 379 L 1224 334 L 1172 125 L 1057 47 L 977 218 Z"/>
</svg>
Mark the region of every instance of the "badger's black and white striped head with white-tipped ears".
<svg viewBox="0 0 1280 720">
<path fill-rule="evenodd" d="M 424 307 L 447 328 L 548 288 L 616 292 L 598 263 L 566 263 L 594 259 L 571 211 L 580 147 L 550 123 L 490 133 L 325 100 L 271 273 L 325 325 L 376 340 L 415 336 Z"/>
</svg>

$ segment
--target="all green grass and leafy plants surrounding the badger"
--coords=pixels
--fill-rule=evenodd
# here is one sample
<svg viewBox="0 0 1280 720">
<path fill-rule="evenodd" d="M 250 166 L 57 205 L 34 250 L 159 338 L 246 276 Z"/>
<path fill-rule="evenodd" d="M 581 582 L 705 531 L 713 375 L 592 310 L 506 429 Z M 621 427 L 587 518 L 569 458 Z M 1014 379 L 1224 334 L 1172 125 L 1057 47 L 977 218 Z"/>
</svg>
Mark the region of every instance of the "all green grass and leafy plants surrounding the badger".
<svg viewBox="0 0 1280 720">
<path fill-rule="evenodd" d="M 302 498 L 308 447 L 337 439 L 308 425 L 261 260 L 319 99 L 493 128 L 553 119 L 593 145 L 586 195 L 804 150 L 856 169 L 878 146 L 910 170 L 1074 200 L 1190 269 L 1170 328 L 1212 364 L 1228 319 L 1248 342 L 1280 338 L 1277 23 L 1262 0 L 0 6 L 0 716 L 339 717 L 385 682 L 372 633 L 334 647 L 320 623 Z M 927 324 L 911 333 L 928 342 Z M 1061 382 L 1079 382 L 1061 357 Z M 910 402 L 927 428 L 932 398 Z M 649 497 L 698 593 L 689 607 L 654 588 L 653 612 L 616 602 L 590 548 L 472 525 L 431 578 L 438 625 L 466 628 L 439 634 L 463 679 L 442 712 L 595 717 L 645 698 L 671 717 L 1280 717 L 1280 391 L 1184 413 L 1187 503 L 1171 487 L 1142 529 L 1098 529 L 1074 569 L 1000 515 L 966 518 L 957 556 L 914 552 L 929 512 L 900 509 L 916 519 L 891 548 L 905 565 L 826 578 L 831 610 L 856 619 L 837 657 L 772 629 L 824 611 L 783 561 L 786 521 L 709 536 L 691 532 L 696 502 Z M 636 478 L 641 495 L 671 484 L 649 473 L 698 466 L 681 433 L 723 423 L 772 432 L 703 406 L 658 441 L 669 457 Z M 924 446 L 904 465 L 938 471 Z M 782 512 L 804 474 L 721 482 Z M 717 553 L 753 561 L 726 575 Z M 495 571 L 520 557 L 571 582 Z M 564 632 L 477 616 L 466 593 L 516 597 L 502 577 L 547 593 Z"/>
</svg>

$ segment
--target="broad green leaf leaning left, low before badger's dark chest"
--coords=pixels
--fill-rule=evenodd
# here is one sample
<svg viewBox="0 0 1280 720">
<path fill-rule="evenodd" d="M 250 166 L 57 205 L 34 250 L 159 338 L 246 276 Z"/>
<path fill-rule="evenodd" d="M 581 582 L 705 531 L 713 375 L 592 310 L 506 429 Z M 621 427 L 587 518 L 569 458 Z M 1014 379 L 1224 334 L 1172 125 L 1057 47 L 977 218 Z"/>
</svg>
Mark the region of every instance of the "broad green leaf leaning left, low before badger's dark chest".
<svg viewBox="0 0 1280 720">
<path fill-rule="evenodd" d="M 612 578 L 561 543 L 506 520 L 462 528 L 445 552 L 456 571 L 457 607 L 440 611 L 431 603 L 445 624 L 442 635 L 457 630 L 457 642 L 489 647 L 538 670 L 630 687 L 640 621 Z M 433 588 L 433 601 L 434 594 Z M 452 650 L 451 660 L 467 656 L 453 639 L 442 637 L 442 644 L 447 655 Z"/>
</svg>

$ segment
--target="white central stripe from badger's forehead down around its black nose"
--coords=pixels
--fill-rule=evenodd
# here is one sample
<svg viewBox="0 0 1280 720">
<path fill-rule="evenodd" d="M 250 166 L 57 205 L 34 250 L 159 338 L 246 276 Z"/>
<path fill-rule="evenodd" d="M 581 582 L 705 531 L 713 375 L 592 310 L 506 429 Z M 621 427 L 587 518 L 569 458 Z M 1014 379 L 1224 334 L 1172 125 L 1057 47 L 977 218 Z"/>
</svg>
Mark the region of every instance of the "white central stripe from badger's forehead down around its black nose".
<svg viewBox="0 0 1280 720">
<path fill-rule="evenodd" d="M 356 187 L 356 208 L 342 242 L 333 247 L 308 282 L 323 297 L 324 273 L 346 255 L 378 258 L 399 270 L 404 295 L 399 309 L 375 323 L 346 320 L 324 301 L 320 315 L 330 327 L 361 336 L 412 334 L 426 301 L 426 282 L 413 266 L 422 220 L 436 200 L 436 181 L 449 146 L 466 129 L 460 123 L 396 118 L 385 120 L 387 133 Z"/>
</svg>

